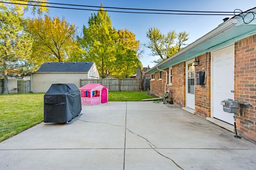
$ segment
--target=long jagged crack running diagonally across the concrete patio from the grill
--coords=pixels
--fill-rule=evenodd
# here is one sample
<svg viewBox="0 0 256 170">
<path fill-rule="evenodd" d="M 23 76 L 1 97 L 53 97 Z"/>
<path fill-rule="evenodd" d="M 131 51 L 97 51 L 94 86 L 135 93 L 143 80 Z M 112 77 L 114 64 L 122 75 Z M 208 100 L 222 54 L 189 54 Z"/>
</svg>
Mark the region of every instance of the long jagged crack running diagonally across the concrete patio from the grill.
<svg viewBox="0 0 256 170">
<path fill-rule="evenodd" d="M 78 119 L 78 120 L 79 120 L 79 121 L 83 121 L 83 120 L 80 120 L 80 119 Z M 177 167 L 179 167 L 180 169 L 184 170 L 184 169 L 183 169 L 182 167 L 180 167 L 173 159 L 171 159 L 171 158 L 169 158 L 169 157 L 167 157 L 167 156 L 161 154 L 160 152 L 158 152 L 158 151 L 156 150 L 157 147 L 156 147 L 152 142 L 150 142 L 147 138 L 142 137 L 141 135 L 139 135 L 139 134 L 137 134 L 137 133 L 134 133 L 134 132 L 131 131 L 130 129 L 126 128 L 126 125 L 125 125 L 125 126 L 122 126 L 122 125 L 116 125 L 116 124 L 105 123 L 105 122 L 91 122 L 91 121 L 83 121 L 83 122 L 87 122 L 87 123 L 101 123 L 101 124 L 109 124 L 109 125 L 114 125 L 114 126 L 118 126 L 118 127 L 123 127 L 123 128 L 125 128 L 126 130 L 128 130 L 129 132 L 131 132 L 132 134 L 137 135 L 138 137 L 140 137 L 140 138 L 142 138 L 142 139 L 145 139 L 145 140 L 148 142 L 148 145 L 151 147 L 151 149 L 154 149 L 154 150 L 157 152 L 157 154 L 159 154 L 159 155 L 161 155 L 161 156 L 163 156 L 163 157 L 165 157 L 165 158 L 171 160 Z M 152 146 L 154 146 L 155 148 L 153 148 Z"/>
</svg>

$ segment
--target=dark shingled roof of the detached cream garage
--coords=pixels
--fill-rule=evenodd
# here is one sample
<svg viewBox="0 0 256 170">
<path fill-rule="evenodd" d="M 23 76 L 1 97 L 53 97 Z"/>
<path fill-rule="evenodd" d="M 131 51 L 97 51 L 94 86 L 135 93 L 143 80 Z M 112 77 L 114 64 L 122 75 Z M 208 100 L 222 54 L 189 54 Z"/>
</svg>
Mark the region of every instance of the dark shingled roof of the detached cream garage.
<svg viewBox="0 0 256 170">
<path fill-rule="evenodd" d="M 94 62 L 46 62 L 36 73 L 47 72 L 83 72 L 87 73 Z"/>
</svg>

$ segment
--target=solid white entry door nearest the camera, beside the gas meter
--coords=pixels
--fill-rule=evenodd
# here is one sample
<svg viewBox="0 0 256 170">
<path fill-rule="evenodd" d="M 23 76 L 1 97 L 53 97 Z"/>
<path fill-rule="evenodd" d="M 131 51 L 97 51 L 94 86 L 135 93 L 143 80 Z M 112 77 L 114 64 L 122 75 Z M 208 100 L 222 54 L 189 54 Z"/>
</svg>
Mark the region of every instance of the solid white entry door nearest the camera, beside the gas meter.
<svg viewBox="0 0 256 170">
<path fill-rule="evenodd" d="M 223 111 L 221 101 L 234 99 L 234 52 L 235 48 L 232 45 L 212 53 L 213 117 L 229 124 L 234 124 L 233 114 Z"/>
</svg>

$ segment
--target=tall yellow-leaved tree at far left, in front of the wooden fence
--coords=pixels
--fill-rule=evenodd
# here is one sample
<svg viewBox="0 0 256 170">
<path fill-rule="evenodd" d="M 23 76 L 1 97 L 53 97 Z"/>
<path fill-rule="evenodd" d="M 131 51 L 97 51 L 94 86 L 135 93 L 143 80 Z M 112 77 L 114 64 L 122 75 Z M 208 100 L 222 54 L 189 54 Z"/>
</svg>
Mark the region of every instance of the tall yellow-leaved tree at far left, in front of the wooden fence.
<svg viewBox="0 0 256 170">
<path fill-rule="evenodd" d="M 28 2 L 0 3 L 0 78 L 4 79 L 4 94 L 9 93 L 7 77 L 22 77 L 31 72 L 26 58 L 31 55 L 33 39 L 25 31 L 26 20 L 23 14 L 27 11 Z M 43 1 L 46 2 L 46 1 Z M 35 3 L 36 4 L 36 3 Z M 34 7 L 33 12 L 45 12 L 45 7 Z"/>
</svg>

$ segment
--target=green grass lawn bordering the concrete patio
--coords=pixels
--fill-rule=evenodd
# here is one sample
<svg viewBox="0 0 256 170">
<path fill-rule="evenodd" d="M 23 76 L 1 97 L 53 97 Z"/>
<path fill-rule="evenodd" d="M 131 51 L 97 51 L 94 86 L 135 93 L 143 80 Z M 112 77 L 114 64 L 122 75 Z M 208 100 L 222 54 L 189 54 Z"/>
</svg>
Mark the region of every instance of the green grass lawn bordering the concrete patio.
<svg viewBox="0 0 256 170">
<path fill-rule="evenodd" d="M 0 142 L 43 121 L 44 94 L 0 95 Z M 146 92 L 109 91 L 109 101 L 154 98 Z"/>
</svg>

